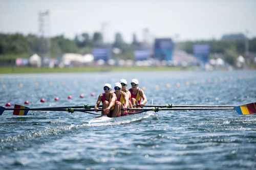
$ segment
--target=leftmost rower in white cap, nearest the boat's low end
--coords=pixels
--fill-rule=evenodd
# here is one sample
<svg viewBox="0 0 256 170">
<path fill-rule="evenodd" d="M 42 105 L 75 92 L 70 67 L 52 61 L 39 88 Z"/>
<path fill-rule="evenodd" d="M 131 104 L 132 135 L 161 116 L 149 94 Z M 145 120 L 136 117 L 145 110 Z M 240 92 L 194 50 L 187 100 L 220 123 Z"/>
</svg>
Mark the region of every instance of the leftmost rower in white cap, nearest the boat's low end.
<svg viewBox="0 0 256 170">
<path fill-rule="evenodd" d="M 98 100 L 94 106 L 94 111 L 98 111 L 100 102 L 102 103 L 102 116 L 117 117 L 120 116 L 121 104 L 116 104 L 116 94 L 111 92 L 111 85 L 109 83 L 104 84 L 104 93 L 99 94 Z"/>
</svg>

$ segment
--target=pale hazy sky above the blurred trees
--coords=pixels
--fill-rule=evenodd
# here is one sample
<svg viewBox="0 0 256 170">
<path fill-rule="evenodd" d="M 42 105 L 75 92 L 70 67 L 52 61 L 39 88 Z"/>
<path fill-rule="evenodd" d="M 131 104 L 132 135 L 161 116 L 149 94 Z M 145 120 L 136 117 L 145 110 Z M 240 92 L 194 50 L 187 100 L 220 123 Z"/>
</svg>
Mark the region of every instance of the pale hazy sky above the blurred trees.
<svg viewBox="0 0 256 170">
<path fill-rule="evenodd" d="M 0 33 L 39 34 L 39 12 L 47 10 L 51 37 L 94 32 L 109 42 L 116 33 L 125 42 L 134 33 L 139 41 L 256 37 L 256 0 L 0 0 Z"/>
</svg>

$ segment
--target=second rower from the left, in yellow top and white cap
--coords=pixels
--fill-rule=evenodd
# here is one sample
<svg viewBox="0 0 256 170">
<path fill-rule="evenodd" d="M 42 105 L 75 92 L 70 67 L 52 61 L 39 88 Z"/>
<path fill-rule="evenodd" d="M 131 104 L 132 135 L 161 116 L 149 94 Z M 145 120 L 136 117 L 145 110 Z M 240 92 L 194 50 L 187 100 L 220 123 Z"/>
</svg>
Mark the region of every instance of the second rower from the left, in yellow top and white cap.
<svg viewBox="0 0 256 170">
<path fill-rule="evenodd" d="M 121 115 L 126 115 L 128 113 L 127 108 L 129 108 L 129 99 L 128 95 L 125 92 L 121 91 L 121 88 L 121 83 L 116 83 L 114 87 L 114 93 L 116 94 L 117 102 L 121 105 Z"/>
</svg>

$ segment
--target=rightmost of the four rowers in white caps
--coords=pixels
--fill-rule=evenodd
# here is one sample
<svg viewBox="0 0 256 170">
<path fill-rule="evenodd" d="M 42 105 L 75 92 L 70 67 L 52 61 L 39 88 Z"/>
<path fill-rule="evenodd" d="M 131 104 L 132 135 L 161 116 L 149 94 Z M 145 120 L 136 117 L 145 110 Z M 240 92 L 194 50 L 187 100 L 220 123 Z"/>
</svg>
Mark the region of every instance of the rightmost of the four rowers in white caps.
<svg viewBox="0 0 256 170">
<path fill-rule="evenodd" d="M 131 102 L 132 105 L 140 105 L 140 107 L 144 107 L 147 103 L 146 95 L 142 89 L 139 88 L 139 81 L 137 79 L 133 79 L 131 81 L 132 88 L 129 89 L 131 92 Z M 141 102 L 141 99 L 143 101 Z"/>
</svg>

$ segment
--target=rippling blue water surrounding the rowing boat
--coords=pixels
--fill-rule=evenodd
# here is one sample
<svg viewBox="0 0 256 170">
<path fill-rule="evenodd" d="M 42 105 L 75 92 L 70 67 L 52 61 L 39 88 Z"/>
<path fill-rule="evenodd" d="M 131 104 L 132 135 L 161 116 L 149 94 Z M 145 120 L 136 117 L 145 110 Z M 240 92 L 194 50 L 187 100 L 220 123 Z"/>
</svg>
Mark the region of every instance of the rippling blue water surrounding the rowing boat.
<svg viewBox="0 0 256 170">
<path fill-rule="evenodd" d="M 0 105 L 24 105 L 26 100 L 31 108 L 95 104 L 103 84 L 114 85 L 121 78 L 138 78 L 149 103 L 241 105 L 256 102 L 255 75 L 256 71 L 2 75 Z M 85 98 L 79 98 L 81 93 Z M 59 101 L 54 101 L 56 96 Z M 41 98 L 46 102 L 40 103 Z M 256 168 L 255 115 L 160 111 L 132 123 L 89 127 L 92 117 L 62 111 L 14 116 L 5 111 L 0 117 L 0 168 Z"/>
</svg>

